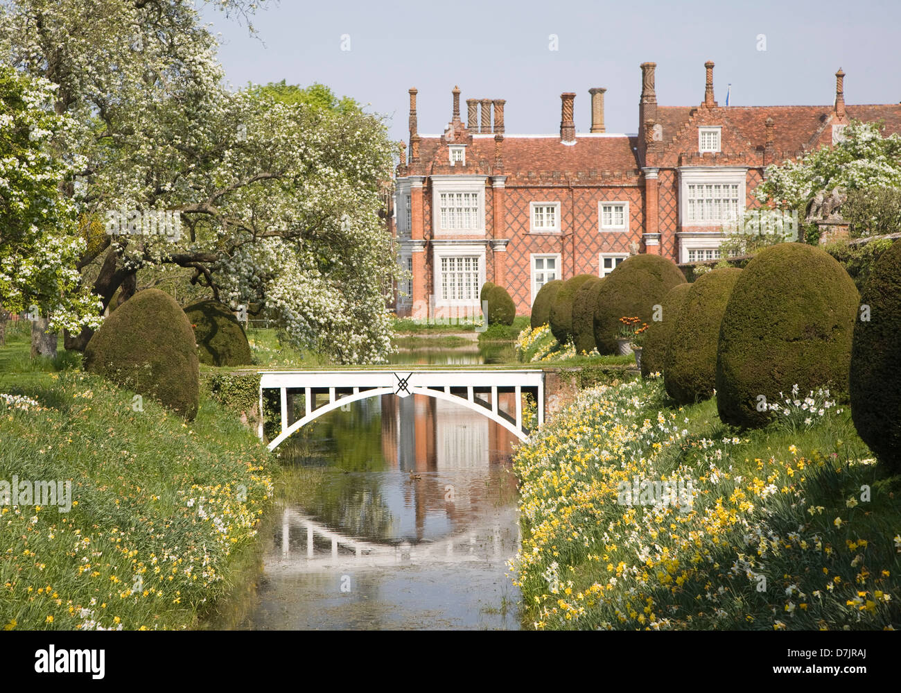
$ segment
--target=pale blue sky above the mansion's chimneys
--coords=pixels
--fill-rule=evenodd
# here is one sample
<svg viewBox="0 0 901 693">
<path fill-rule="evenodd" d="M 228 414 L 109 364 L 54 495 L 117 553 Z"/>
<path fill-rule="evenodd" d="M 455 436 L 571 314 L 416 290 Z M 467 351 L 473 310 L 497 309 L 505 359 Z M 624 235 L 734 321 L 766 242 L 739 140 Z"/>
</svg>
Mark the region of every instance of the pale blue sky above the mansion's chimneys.
<svg viewBox="0 0 901 693">
<path fill-rule="evenodd" d="M 831 104 L 839 67 L 847 103 L 901 101 L 899 0 L 282 0 L 253 18 L 257 38 L 212 9 L 204 17 L 222 32 L 232 85 L 322 82 L 389 116 L 394 139 L 407 136 L 408 88 L 419 89 L 420 133 L 436 134 L 451 119 L 455 84 L 464 120 L 467 98 L 505 98 L 508 134 L 558 132 L 563 91 L 577 93 L 576 128 L 587 132 L 588 88 L 605 87 L 607 132 L 634 133 L 645 60 L 657 63 L 658 102 L 668 106 L 701 103 L 705 60 L 716 63 L 721 105 L 729 82 L 735 106 Z"/>
</svg>

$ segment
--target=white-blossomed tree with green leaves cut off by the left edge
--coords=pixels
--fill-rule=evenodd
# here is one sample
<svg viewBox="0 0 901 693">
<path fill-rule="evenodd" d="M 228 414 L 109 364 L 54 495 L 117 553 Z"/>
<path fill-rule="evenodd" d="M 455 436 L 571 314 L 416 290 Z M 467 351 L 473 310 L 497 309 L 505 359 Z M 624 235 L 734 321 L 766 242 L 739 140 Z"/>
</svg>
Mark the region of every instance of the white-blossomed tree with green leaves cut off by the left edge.
<svg viewBox="0 0 901 693">
<path fill-rule="evenodd" d="M 85 243 L 59 186 L 80 161 L 60 148 L 73 124 L 53 112 L 53 94 L 46 79 L 0 66 L 0 310 L 33 310 L 55 332 L 96 327 L 100 303 L 76 269 Z"/>
</svg>

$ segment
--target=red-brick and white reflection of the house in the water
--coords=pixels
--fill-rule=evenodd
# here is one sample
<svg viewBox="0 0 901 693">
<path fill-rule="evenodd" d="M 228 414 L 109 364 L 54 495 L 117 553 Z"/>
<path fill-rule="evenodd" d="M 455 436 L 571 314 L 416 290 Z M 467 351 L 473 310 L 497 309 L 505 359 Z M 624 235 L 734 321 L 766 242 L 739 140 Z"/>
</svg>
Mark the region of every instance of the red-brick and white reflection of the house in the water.
<svg viewBox="0 0 901 693">
<path fill-rule="evenodd" d="M 514 397 L 511 393 L 501 398 L 507 396 Z M 512 403 L 500 406 L 509 411 Z M 430 533 L 426 529 L 430 518 L 438 520 L 440 515 L 459 530 L 478 507 L 494 505 L 504 489 L 514 497 L 514 476 L 499 464 L 513 450 L 516 439 L 510 431 L 478 411 L 424 395 L 384 395 L 381 411 L 387 467 L 422 474 L 405 485 L 405 504 L 414 508 L 417 539 Z"/>
</svg>

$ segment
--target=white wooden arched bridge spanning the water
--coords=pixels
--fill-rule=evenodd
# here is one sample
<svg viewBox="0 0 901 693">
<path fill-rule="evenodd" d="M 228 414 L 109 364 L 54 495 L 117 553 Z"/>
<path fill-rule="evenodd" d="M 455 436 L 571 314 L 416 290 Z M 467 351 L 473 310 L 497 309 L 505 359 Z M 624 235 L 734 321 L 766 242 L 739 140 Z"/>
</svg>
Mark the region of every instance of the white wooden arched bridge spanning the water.
<svg viewBox="0 0 901 693">
<path fill-rule="evenodd" d="M 277 389 L 281 402 L 281 432 L 269 443 L 275 449 L 288 436 L 350 402 L 383 394 L 409 397 L 422 394 L 454 402 L 486 416 L 528 441 L 529 431 L 523 426 L 523 394 L 534 395 L 538 405 L 538 425 L 544 422 L 544 373 L 541 370 L 341 370 L 341 371 L 260 371 L 259 372 L 259 438 L 263 438 L 263 391 Z M 305 413 L 292 421 L 294 396 L 304 394 Z M 514 395 L 513 411 L 504 411 L 499 395 Z M 327 401 L 319 403 L 320 399 Z M 290 406 L 289 406 L 290 402 Z"/>
</svg>

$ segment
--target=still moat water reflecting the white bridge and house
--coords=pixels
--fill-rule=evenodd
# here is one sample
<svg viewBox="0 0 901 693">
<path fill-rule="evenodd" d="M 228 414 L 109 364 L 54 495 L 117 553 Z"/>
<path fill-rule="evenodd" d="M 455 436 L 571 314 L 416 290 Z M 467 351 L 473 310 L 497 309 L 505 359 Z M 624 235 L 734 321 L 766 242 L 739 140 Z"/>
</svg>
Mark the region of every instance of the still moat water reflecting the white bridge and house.
<svg viewBox="0 0 901 693">
<path fill-rule="evenodd" d="M 435 356 L 408 353 L 405 363 Z M 385 395 L 296 435 L 283 464 L 301 468 L 305 488 L 278 504 L 242 627 L 519 627 L 506 576 L 519 543 L 511 433 L 451 402 Z"/>
</svg>

